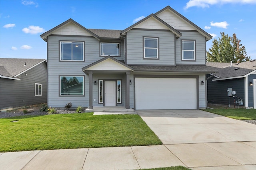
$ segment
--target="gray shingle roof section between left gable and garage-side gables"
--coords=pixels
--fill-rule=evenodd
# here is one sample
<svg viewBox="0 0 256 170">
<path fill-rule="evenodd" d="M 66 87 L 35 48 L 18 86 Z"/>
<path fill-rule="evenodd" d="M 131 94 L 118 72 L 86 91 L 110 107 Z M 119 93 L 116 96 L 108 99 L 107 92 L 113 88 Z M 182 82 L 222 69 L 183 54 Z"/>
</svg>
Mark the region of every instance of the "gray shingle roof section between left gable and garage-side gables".
<svg viewBox="0 0 256 170">
<path fill-rule="evenodd" d="M 92 31 L 94 34 L 98 35 L 100 38 L 116 38 L 119 39 L 120 31 L 122 30 L 114 30 L 114 29 L 88 29 Z"/>
</svg>

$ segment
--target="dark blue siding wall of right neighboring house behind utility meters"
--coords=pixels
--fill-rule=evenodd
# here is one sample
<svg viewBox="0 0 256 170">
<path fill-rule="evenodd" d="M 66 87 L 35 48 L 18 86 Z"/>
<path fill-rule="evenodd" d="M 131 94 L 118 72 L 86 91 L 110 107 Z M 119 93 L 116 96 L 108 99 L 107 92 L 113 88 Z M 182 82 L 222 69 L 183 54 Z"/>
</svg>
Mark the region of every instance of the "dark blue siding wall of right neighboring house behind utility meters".
<svg viewBox="0 0 256 170">
<path fill-rule="evenodd" d="M 210 75 L 207 74 L 207 77 Z M 210 104 L 229 104 L 228 88 L 232 88 L 232 91 L 236 91 L 236 96 L 244 99 L 244 78 L 236 78 L 229 80 L 212 81 L 213 78 L 207 81 L 207 100 Z M 236 98 L 237 100 L 237 98 Z M 230 105 L 234 105 L 234 98 L 230 98 Z"/>
</svg>

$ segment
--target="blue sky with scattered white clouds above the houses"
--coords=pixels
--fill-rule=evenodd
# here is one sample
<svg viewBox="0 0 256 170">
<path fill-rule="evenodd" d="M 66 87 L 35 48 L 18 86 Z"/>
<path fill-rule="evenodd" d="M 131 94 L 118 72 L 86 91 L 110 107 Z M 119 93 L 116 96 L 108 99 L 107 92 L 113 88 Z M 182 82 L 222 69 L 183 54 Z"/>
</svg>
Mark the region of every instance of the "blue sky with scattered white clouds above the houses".
<svg viewBox="0 0 256 170">
<path fill-rule="evenodd" d="M 123 30 L 166 6 L 214 38 L 236 33 L 256 59 L 256 0 L 0 0 L 0 58 L 46 59 L 40 35 L 69 18 L 86 28 Z"/>
</svg>

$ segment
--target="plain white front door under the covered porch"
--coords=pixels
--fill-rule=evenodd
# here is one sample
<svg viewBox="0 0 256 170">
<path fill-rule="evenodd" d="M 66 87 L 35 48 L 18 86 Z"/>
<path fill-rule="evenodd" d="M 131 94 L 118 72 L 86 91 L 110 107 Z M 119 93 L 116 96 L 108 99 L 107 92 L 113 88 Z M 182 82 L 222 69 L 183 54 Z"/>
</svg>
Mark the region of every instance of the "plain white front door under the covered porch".
<svg viewBox="0 0 256 170">
<path fill-rule="evenodd" d="M 105 106 L 116 106 L 116 82 L 105 82 Z"/>
</svg>

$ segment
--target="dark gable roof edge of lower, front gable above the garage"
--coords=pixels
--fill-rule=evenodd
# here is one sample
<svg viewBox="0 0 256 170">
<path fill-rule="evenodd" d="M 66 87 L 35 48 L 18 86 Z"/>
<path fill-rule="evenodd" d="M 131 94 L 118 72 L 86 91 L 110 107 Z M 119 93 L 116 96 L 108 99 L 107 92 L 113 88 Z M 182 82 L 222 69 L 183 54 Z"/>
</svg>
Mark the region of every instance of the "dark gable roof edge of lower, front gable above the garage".
<svg viewBox="0 0 256 170">
<path fill-rule="evenodd" d="M 172 33 L 174 33 L 175 35 L 177 35 L 177 37 L 181 37 L 182 33 L 180 33 L 179 31 L 177 31 L 176 29 L 174 29 L 172 26 L 170 26 L 168 23 L 164 22 L 163 20 L 161 20 L 160 18 L 158 18 L 156 15 L 154 14 L 150 14 L 149 16 L 147 16 L 146 18 L 143 18 L 142 20 L 134 23 L 133 25 L 131 25 L 130 27 L 124 29 L 123 31 L 121 31 L 121 34 L 123 35 L 124 33 L 126 33 L 127 31 L 131 30 L 132 28 L 134 28 L 136 25 L 148 20 L 149 18 L 155 18 L 156 20 L 158 20 L 160 23 L 164 24 Z"/>
</svg>

